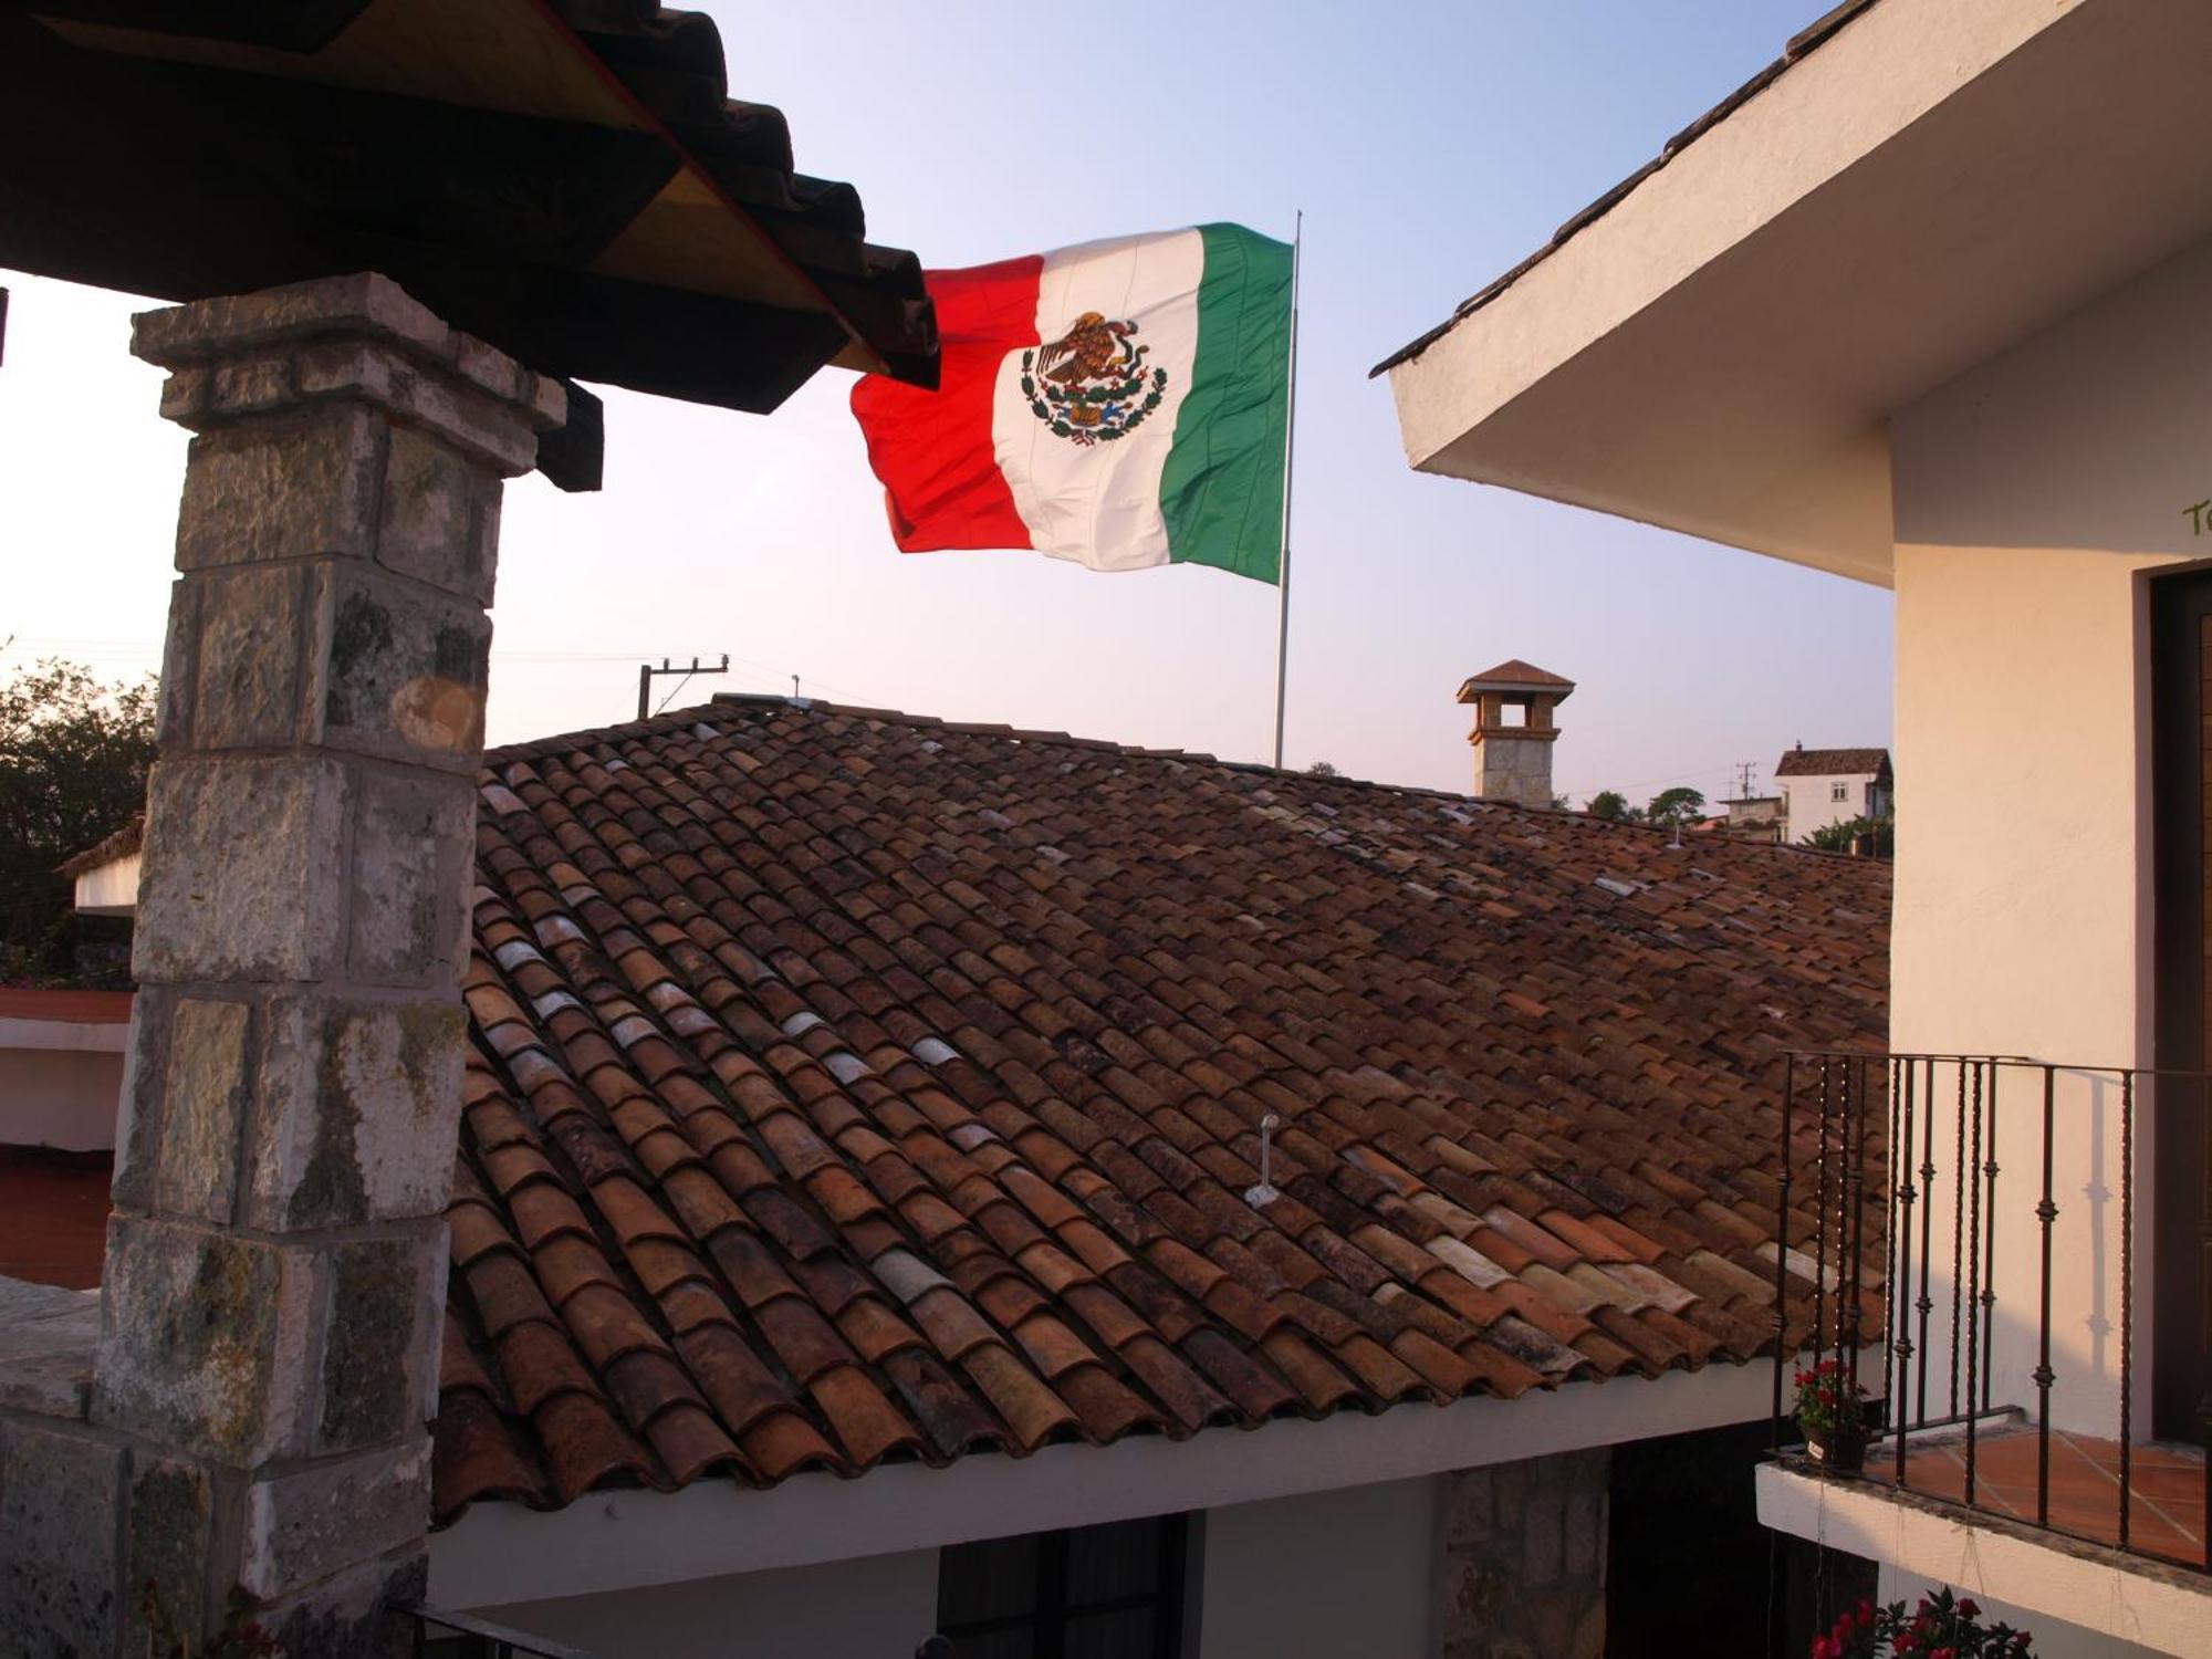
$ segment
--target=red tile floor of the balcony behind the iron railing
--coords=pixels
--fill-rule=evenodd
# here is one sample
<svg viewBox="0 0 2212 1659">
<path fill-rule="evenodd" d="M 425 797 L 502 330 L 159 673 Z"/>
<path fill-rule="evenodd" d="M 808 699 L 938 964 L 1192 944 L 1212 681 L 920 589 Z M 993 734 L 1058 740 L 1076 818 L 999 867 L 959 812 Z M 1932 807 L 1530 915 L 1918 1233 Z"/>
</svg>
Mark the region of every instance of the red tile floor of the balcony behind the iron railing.
<svg viewBox="0 0 2212 1659">
<path fill-rule="evenodd" d="M 1896 1451 L 1867 1451 L 1867 1473 L 1896 1482 Z M 2006 1425 L 1978 1436 L 1973 1506 L 1991 1515 L 2037 1520 L 2037 1436 Z M 1962 1502 L 1966 1440 L 1907 1442 L 1905 1484 L 1929 1498 Z M 2194 1447 L 2137 1444 L 2128 1460 L 2128 1548 L 2170 1562 L 2205 1562 L 2205 1458 Z M 2051 1431 L 2051 1526 L 2099 1544 L 2119 1542 L 2119 1442 Z"/>
</svg>

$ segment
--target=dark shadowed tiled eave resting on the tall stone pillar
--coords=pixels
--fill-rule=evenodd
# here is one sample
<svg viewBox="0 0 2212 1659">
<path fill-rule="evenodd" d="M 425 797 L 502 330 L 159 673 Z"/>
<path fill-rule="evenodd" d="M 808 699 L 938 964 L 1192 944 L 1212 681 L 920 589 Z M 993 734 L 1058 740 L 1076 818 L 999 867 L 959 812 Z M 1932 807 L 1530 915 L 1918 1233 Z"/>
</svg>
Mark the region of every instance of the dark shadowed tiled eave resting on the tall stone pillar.
<svg viewBox="0 0 2212 1659">
<path fill-rule="evenodd" d="M 732 71 L 752 38 L 655 0 L 0 7 L 9 263 L 175 301 L 374 268 L 571 385 L 540 465 L 580 489 L 577 380 L 759 411 L 832 361 L 933 387 L 920 259 Z"/>
</svg>

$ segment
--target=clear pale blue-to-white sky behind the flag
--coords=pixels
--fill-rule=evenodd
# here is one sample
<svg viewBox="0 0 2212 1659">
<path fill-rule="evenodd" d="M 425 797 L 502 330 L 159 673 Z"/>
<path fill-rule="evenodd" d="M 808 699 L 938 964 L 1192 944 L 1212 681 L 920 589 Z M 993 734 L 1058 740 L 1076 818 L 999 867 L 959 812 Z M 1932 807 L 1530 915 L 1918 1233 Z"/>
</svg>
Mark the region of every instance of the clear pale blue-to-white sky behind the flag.
<svg viewBox="0 0 2212 1659">
<path fill-rule="evenodd" d="M 964 265 L 1305 208 L 1290 761 L 1464 790 L 1460 679 L 1579 681 L 1557 785 L 1730 792 L 1792 741 L 1889 741 L 1889 593 L 1407 469 L 1367 369 L 1641 166 L 1825 0 L 719 2 L 737 97 L 874 241 Z M 1082 113 L 1071 113 L 1082 111 Z M 159 659 L 184 434 L 142 303 L 0 272 L 0 657 Z M 491 739 L 635 712 L 637 661 L 1265 759 L 1274 588 L 1035 553 L 900 555 L 825 369 L 768 418 L 608 394 L 606 489 L 509 487 Z M 672 681 L 661 681 L 664 695 Z"/>
</svg>

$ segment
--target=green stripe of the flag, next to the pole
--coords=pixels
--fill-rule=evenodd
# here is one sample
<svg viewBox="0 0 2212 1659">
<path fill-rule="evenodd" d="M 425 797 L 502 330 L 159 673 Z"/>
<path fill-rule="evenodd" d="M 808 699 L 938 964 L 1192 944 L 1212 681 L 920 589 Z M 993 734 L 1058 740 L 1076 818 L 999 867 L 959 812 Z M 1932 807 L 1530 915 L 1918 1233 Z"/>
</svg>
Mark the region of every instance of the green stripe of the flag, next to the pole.
<svg viewBox="0 0 2212 1659">
<path fill-rule="evenodd" d="M 1168 557 L 1274 582 L 1290 422 L 1290 243 L 1199 226 L 1199 356 L 1159 478 Z"/>
</svg>

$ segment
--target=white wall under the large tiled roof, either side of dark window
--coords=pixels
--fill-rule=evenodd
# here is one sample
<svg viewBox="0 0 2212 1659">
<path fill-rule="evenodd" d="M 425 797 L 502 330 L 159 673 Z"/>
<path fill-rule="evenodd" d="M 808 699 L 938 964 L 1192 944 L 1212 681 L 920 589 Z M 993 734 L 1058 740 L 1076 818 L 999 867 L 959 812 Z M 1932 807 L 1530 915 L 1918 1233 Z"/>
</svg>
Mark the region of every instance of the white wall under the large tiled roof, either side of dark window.
<svg viewBox="0 0 2212 1659">
<path fill-rule="evenodd" d="M 1427 1659 L 1436 1515 L 1433 1478 L 1208 1513 L 1190 1584 L 1197 1659 Z M 938 1553 L 469 1610 L 595 1659 L 907 1659 L 936 1628 Z"/>
</svg>

